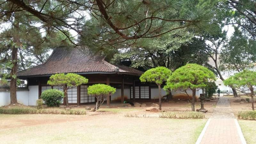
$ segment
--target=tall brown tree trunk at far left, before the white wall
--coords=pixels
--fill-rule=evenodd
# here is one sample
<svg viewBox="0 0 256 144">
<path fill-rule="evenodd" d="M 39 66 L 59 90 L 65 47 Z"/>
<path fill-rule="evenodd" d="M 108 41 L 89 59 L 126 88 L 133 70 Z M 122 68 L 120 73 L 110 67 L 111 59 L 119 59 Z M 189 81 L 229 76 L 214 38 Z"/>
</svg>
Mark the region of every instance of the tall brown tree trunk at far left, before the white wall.
<svg viewBox="0 0 256 144">
<path fill-rule="evenodd" d="M 11 104 L 18 103 L 17 101 L 17 54 L 18 49 L 15 46 L 12 47 L 12 69 L 11 69 L 11 81 L 10 81 L 10 99 Z"/>
</svg>

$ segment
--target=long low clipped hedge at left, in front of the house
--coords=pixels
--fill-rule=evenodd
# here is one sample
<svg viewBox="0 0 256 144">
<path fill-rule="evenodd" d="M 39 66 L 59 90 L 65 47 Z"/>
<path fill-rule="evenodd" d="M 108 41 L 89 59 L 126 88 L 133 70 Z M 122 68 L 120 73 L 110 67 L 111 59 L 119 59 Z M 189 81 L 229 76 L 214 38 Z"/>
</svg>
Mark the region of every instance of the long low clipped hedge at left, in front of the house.
<svg viewBox="0 0 256 144">
<path fill-rule="evenodd" d="M 86 115 L 85 110 L 76 109 L 36 109 L 36 108 L 0 108 L 0 114 L 61 114 Z"/>
</svg>

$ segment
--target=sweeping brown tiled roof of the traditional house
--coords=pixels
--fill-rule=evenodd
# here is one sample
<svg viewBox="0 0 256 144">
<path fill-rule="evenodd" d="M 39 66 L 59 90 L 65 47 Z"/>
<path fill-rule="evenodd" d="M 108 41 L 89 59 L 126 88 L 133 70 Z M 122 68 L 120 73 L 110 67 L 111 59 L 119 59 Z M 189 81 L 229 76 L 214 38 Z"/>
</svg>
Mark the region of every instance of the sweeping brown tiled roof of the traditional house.
<svg viewBox="0 0 256 144">
<path fill-rule="evenodd" d="M 55 48 L 43 64 L 18 72 L 19 77 L 42 76 L 56 73 L 118 73 L 141 75 L 143 72 L 126 66 L 115 66 L 104 60 L 102 54 L 95 54 L 89 48 Z"/>
</svg>

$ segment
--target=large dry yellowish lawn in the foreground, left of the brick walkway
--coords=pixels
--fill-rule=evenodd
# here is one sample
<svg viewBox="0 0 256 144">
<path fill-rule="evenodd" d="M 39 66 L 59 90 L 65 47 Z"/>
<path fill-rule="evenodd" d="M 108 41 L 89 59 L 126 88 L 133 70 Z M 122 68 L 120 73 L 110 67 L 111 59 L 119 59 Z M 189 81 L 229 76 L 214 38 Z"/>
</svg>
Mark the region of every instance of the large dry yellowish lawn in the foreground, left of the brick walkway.
<svg viewBox="0 0 256 144">
<path fill-rule="evenodd" d="M 1 114 L 0 140 L 1 143 L 193 144 L 206 121 L 130 118 L 118 112 L 91 116 Z"/>
</svg>

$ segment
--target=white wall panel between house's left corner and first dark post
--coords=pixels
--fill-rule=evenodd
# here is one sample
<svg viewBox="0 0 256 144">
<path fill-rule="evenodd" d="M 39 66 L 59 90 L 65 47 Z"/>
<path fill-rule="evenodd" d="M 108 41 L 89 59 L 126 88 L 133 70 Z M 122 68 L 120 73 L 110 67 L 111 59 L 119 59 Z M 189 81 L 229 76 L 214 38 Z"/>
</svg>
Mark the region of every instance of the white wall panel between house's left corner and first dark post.
<svg viewBox="0 0 256 144">
<path fill-rule="evenodd" d="M 28 105 L 36 106 L 36 100 L 38 100 L 38 85 L 28 86 Z"/>
</svg>

